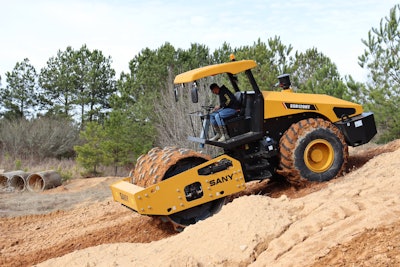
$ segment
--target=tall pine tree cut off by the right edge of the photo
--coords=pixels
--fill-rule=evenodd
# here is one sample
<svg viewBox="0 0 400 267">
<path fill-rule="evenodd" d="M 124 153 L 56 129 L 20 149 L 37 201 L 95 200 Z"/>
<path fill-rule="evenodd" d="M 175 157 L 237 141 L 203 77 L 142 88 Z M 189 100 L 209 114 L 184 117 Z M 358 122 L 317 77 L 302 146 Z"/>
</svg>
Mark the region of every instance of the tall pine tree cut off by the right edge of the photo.
<svg viewBox="0 0 400 267">
<path fill-rule="evenodd" d="M 380 129 L 379 142 L 400 138 L 400 5 L 381 19 L 377 28 L 368 32 L 362 43 L 366 46 L 358 58 L 369 71 L 365 89 L 368 107 L 375 113 Z"/>
</svg>

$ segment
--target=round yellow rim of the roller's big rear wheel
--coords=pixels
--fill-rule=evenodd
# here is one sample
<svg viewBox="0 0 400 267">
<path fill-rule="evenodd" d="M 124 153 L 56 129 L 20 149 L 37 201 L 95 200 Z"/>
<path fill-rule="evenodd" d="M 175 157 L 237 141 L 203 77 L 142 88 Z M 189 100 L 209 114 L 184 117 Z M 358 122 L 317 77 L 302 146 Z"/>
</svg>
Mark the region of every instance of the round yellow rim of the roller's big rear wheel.
<svg viewBox="0 0 400 267">
<path fill-rule="evenodd" d="M 304 150 L 304 162 L 313 172 L 327 171 L 333 164 L 335 152 L 332 145 L 324 139 L 316 139 Z"/>
</svg>

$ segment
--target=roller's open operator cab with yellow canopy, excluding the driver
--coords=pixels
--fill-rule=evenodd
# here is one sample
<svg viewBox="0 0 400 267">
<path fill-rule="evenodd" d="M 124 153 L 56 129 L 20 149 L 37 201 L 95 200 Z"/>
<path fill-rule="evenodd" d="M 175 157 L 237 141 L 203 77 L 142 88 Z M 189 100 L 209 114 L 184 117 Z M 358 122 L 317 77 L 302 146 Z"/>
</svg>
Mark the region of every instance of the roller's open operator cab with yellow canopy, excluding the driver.
<svg viewBox="0 0 400 267">
<path fill-rule="evenodd" d="M 210 111 L 208 106 L 202 106 L 202 111 L 192 112 L 191 123 L 194 136 L 189 140 L 200 143 L 222 147 L 224 149 L 233 149 L 238 146 L 259 141 L 264 136 L 264 97 L 253 77 L 251 69 L 256 68 L 257 63 L 254 60 L 235 60 L 231 56 L 231 61 L 227 63 L 214 64 L 200 67 L 177 75 L 174 84 L 193 85 L 191 87 L 191 96 L 194 103 L 198 103 L 198 89 L 196 81 L 214 77 L 217 75 L 227 75 L 229 84 L 227 87 L 238 97 L 241 98 L 242 107 L 240 111 L 225 122 L 229 139 L 223 142 L 210 140 Z M 241 90 L 242 89 L 242 90 Z M 201 120 L 194 121 L 193 117 L 200 117 Z M 201 125 L 199 125 L 201 122 Z M 201 131 L 198 131 L 201 128 Z M 210 132 L 210 133 L 209 133 Z"/>
</svg>

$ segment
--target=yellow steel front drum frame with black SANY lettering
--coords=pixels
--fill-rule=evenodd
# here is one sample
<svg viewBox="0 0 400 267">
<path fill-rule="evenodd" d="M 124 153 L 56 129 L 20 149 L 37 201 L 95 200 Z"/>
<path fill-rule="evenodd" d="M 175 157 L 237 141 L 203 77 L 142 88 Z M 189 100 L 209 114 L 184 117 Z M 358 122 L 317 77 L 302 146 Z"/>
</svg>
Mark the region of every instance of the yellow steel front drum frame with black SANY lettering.
<svg viewBox="0 0 400 267">
<path fill-rule="evenodd" d="M 229 160 L 232 165 L 215 173 L 199 174 L 200 169 L 221 160 Z M 227 155 L 214 158 L 146 188 L 134 185 L 129 180 L 130 177 L 111 185 L 113 198 L 144 215 L 174 214 L 246 188 L 240 162 Z M 185 189 L 191 185 L 196 185 L 202 192 L 198 192 L 196 199 L 188 200 Z"/>
</svg>

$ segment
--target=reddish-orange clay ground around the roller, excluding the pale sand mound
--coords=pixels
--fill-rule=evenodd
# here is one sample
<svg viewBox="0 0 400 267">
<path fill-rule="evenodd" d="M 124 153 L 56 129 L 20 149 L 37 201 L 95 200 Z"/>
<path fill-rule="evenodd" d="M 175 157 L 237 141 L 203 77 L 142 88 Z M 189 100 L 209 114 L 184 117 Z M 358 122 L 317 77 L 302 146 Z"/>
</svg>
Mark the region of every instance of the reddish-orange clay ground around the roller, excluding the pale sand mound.
<svg viewBox="0 0 400 267">
<path fill-rule="evenodd" d="M 348 172 L 399 147 L 400 142 L 395 141 L 350 151 Z M 32 266 L 101 244 L 150 243 L 178 235 L 168 224 L 139 216 L 113 202 L 109 185 L 119 179 L 74 179 L 42 193 L 0 193 L 0 266 Z M 340 183 L 341 179 L 310 183 L 301 189 L 287 183 L 264 181 L 250 184 L 241 195 L 302 198 Z M 312 266 L 400 266 L 398 244 L 400 220 L 357 233 L 355 238 L 338 244 Z"/>
</svg>

